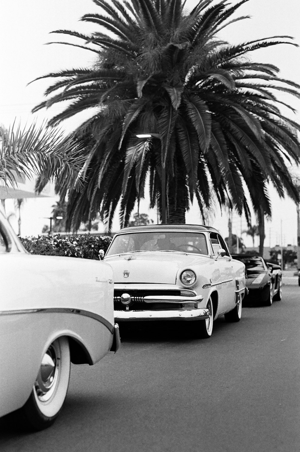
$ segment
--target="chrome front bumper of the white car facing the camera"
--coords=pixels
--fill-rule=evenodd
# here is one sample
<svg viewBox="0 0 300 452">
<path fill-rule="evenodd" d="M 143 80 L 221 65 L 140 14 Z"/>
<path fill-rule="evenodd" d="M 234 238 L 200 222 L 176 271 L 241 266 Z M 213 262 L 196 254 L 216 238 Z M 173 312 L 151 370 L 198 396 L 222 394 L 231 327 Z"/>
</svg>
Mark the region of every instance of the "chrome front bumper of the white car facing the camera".
<svg viewBox="0 0 300 452">
<path fill-rule="evenodd" d="M 139 320 L 205 320 L 209 318 L 209 314 L 210 311 L 206 308 L 176 311 L 114 311 L 114 318 L 122 322 Z"/>
</svg>

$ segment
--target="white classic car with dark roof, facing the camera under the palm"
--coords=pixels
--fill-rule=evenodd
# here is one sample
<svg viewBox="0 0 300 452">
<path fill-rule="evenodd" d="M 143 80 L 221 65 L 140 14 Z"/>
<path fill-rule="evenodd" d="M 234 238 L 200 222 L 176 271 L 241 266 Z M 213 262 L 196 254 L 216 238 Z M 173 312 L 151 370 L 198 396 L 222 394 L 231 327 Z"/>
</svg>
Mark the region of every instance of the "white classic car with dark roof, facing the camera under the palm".
<svg viewBox="0 0 300 452">
<path fill-rule="evenodd" d="M 208 338 L 220 315 L 241 318 L 245 265 L 232 259 L 212 227 L 127 227 L 99 255 L 114 270 L 119 322 L 189 320 L 195 334 Z"/>
</svg>

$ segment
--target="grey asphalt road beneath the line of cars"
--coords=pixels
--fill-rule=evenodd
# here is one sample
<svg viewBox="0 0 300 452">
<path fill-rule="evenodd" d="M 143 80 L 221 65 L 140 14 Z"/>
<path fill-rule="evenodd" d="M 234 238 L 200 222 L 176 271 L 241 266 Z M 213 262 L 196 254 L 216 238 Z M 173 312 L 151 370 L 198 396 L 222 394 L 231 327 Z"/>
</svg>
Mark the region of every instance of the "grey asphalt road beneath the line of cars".
<svg viewBox="0 0 300 452">
<path fill-rule="evenodd" d="M 72 366 L 61 416 L 43 432 L 0 423 L 0 451 L 300 451 L 300 287 L 245 307 L 210 339 L 175 325 L 123 331 L 122 348 Z"/>
</svg>

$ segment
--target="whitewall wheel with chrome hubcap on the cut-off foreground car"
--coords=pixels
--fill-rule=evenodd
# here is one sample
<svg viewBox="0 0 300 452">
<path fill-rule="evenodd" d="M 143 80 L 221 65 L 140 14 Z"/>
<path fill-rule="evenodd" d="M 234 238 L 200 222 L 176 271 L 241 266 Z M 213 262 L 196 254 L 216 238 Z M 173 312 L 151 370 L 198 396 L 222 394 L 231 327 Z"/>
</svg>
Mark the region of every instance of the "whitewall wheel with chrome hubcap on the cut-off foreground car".
<svg viewBox="0 0 300 452">
<path fill-rule="evenodd" d="M 53 424 L 67 395 L 70 367 L 69 341 L 58 338 L 44 354 L 33 390 L 20 410 L 27 427 L 43 430 Z"/>
</svg>

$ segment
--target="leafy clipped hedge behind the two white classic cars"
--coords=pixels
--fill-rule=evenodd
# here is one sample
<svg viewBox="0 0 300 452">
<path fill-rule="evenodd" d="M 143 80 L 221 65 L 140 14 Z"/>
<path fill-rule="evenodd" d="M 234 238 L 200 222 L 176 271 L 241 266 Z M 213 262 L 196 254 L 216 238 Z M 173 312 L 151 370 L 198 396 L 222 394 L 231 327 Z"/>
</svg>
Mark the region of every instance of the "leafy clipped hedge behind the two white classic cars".
<svg viewBox="0 0 300 452">
<path fill-rule="evenodd" d="M 19 237 L 24 248 L 31 254 L 48 256 L 69 256 L 83 259 L 99 259 L 99 250 L 106 251 L 111 237 L 92 234 L 78 235 L 38 235 Z"/>
</svg>

